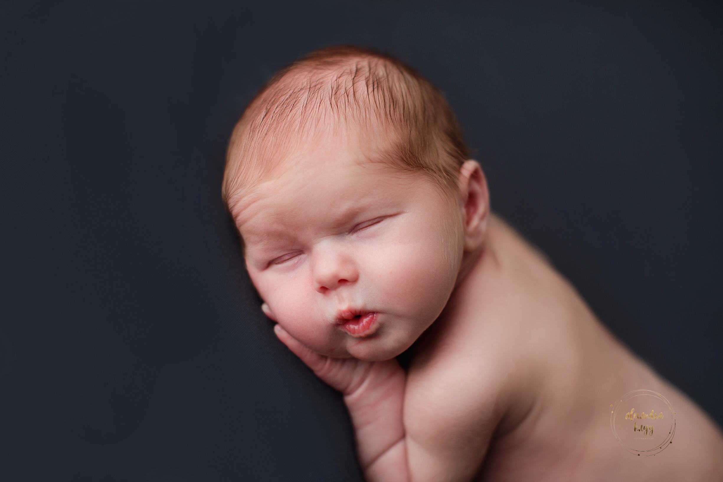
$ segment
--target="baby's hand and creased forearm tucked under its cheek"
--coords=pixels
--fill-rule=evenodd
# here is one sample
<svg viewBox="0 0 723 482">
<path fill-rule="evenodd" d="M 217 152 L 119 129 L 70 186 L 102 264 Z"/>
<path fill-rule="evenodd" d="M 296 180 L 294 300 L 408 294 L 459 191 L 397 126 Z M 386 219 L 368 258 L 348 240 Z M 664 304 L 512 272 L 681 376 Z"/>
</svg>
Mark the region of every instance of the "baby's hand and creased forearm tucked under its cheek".
<svg viewBox="0 0 723 482">
<path fill-rule="evenodd" d="M 309 350 L 279 324 L 274 331 L 320 379 L 343 393 L 367 481 L 408 481 L 402 421 L 406 374 L 399 363 L 331 358 Z"/>
</svg>

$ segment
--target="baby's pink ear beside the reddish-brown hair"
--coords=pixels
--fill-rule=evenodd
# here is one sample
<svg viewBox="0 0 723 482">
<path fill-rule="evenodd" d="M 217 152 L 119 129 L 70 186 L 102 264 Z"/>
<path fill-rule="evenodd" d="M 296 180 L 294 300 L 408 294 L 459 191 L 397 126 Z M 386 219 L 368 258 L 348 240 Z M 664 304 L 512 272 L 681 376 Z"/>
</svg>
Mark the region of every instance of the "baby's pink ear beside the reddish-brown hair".
<svg viewBox="0 0 723 482">
<path fill-rule="evenodd" d="M 487 179 L 476 160 L 467 160 L 460 168 L 459 191 L 464 222 L 464 249 L 474 251 L 482 246 L 489 218 Z"/>
</svg>

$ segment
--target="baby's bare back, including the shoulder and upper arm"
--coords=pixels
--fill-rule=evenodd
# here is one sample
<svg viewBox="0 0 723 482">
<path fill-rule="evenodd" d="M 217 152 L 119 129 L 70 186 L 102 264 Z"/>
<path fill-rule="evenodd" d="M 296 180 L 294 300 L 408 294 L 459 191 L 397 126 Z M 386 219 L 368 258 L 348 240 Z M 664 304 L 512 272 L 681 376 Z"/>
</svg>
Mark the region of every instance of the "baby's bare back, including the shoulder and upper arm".
<svg viewBox="0 0 723 482">
<path fill-rule="evenodd" d="M 609 404 L 639 389 L 677 412 L 675 444 L 656 457 L 625 452 L 609 426 Z M 714 423 L 499 219 L 419 340 L 403 413 L 414 481 L 723 478 Z"/>
</svg>

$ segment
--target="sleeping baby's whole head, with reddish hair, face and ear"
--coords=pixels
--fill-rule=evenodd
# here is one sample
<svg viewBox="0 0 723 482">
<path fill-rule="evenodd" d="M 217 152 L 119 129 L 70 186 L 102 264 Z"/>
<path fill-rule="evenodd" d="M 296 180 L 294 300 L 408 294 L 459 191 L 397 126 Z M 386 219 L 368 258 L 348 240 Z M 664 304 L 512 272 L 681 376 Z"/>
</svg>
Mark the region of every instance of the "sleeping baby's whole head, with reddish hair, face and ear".
<svg viewBox="0 0 723 482">
<path fill-rule="evenodd" d="M 442 312 L 489 212 L 442 94 L 326 48 L 279 72 L 228 146 L 223 198 L 266 314 L 319 353 L 385 360 Z"/>
</svg>

